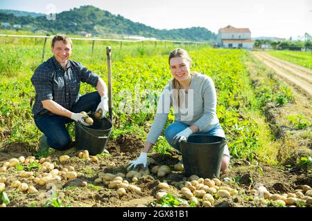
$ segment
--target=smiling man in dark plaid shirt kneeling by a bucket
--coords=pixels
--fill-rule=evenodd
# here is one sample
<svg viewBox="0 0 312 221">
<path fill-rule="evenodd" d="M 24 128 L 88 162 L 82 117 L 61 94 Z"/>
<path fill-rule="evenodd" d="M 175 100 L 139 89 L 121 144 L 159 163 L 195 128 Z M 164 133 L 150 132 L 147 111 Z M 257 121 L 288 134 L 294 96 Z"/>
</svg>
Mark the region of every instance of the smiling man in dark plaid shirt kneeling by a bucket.
<svg viewBox="0 0 312 221">
<path fill-rule="evenodd" d="M 65 124 L 81 122 L 87 115 L 81 111 L 102 109 L 101 118 L 108 111 L 107 86 L 103 79 L 81 63 L 69 60 L 72 41 L 67 35 L 52 39 L 53 57 L 40 64 L 31 82 L 35 86 L 33 115 L 37 128 L 44 133 L 40 139 L 39 153 L 49 147 L 62 151 L 70 147 L 71 138 Z M 80 82 L 96 87 L 95 92 L 80 97 Z"/>
</svg>

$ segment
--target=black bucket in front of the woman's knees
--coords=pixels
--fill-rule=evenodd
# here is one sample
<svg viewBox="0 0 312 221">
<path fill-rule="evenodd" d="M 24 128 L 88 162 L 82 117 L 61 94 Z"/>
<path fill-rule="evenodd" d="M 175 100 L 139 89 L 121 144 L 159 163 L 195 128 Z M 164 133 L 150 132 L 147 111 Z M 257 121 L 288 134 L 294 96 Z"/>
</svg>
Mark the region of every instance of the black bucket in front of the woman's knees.
<svg viewBox="0 0 312 221">
<path fill-rule="evenodd" d="M 212 135 L 190 135 L 187 142 L 180 142 L 185 175 L 219 177 L 225 144 L 224 137 Z"/>
</svg>

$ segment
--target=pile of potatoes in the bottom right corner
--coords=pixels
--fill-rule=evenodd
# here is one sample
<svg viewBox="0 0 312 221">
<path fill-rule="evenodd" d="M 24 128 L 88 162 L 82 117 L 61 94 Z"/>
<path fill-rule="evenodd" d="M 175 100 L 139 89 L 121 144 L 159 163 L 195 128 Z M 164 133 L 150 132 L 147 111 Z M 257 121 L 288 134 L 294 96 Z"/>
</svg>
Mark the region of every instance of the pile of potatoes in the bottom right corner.
<svg viewBox="0 0 312 221">
<path fill-rule="evenodd" d="M 272 194 L 264 186 L 259 186 L 258 189 L 251 189 L 250 193 L 257 198 L 272 200 L 272 202 L 284 206 L 296 207 L 300 206 L 300 204 L 312 204 L 312 189 L 308 185 L 297 186 L 293 193 L 284 193 L 282 195 Z"/>
</svg>

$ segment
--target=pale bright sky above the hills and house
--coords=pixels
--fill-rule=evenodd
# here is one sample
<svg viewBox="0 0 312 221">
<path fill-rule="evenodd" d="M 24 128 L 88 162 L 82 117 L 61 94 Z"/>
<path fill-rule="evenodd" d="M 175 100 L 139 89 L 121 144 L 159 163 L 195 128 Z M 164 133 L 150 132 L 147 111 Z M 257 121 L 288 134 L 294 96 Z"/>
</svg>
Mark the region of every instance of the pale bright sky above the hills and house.
<svg viewBox="0 0 312 221">
<path fill-rule="evenodd" d="M 157 29 L 200 26 L 217 33 L 231 25 L 250 28 L 252 37 L 312 35 L 312 0 L 0 0 L 0 9 L 44 14 L 86 5 Z"/>
</svg>

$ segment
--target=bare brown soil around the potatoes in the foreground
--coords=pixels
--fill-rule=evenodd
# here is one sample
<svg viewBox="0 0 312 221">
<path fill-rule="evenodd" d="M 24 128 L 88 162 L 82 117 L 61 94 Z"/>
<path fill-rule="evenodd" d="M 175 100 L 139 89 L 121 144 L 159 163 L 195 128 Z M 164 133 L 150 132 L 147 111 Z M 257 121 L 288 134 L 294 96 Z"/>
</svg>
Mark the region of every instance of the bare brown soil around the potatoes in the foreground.
<svg viewBox="0 0 312 221">
<path fill-rule="evenodd" d="M 34 184 L 27 178 L 17 176 L 17 171 L 13 168 L 8 171 L 1 172 L 1 175 L 6 176 L 6 193 L 10 197 L 10 204 L 8 206 L 44 206 L 49 202 L 49 194 L 51 192 L 58 193 L 58 199 L 61 200 L 62 206 L 105 206 L 105 207 L 144 207 L 155 206 L 157 200 L 155 195 L 159 191 L 157 186 L 159 182 L 168 182 L 171 186 L 168 193 L 175 195 L 178 198 L 184 198 L 180 191 L 175 187 L 175 183 L 186 180 L 184 172 L 171 171 L 165 177 L 157 177 L 150 175 L 148 177 L 139 178 L 135 183 L 141 188 L 141 192 L 128 191 L 123 197 L 117 195 L 115 189 L 108 189 L 107 184 L 96 184 L 94 180 L 98 177 L 98 172 L 105 173 L 127 173 L 125 164 L 133 160 L 139 155 L 143 141 L 133 135 L 122 135 L 115 140 L 108 142 L 107 150 L 110 155 L 103 155 L 99 157 L 98 162 L 90 162 L 78 158 L 78 152 L 75 148 L 68 151 L 54 151 L 49 158 L 56 163 L 55 168 L 62 169 L 73 166 L 75 171 L 79 171 L 84 175 L 75 180 L 62 180 L 55 184 L 56 189 L 47 188 L 46 186 L 39 186 Z M 10 144 L 9 146 L 2 146 L 0 152 L 0 165 L 3 162 L 10 160 L 12 157 L 19 157 L 24 155 L 34 155 L 26 151 L 24 144 Z M 126 151 L 129 150 L 129 151 Z M 155 160 L 155 164 L 166 164 L 171 166 L 181 160 L 181 155 L 175 150 L 169 150 L 171 155 L 159 155 L 157 153 L 150 153 L 149 157 Z M 69 155 L 71 158 L 69 162 L 58 161 L 60 155 Z M 151 169 L 154 164 L 148 166 Z M 259 173 L 259 167 L 263 170 L 263 175 Z M 17 189 L 10 187 L 13 180 L 20 180 L 35 186 L 38 193 L 27 194 L 21 193 Z M 309 172 L 288 171 L 280 166 L 268 166 L 266 164 L 259 164 L 258 166 L 250 164 L 245 160 L 232 159 L 229 169 L 220 173 L 220 180 L 227 186 L 239 191 L 239 194 L 234 195 L 227 200 L 216 200 L 215 206 L 268 206 L 267 203 L 261 200 L 251 200 L 252 194 L 250 189 L 257 188 L 257 186 L 266 186 L 270 193 L 288 193 L 297 189 L 300 184 L 308 184 L 312 186 L 312 175 Z M 82 187 L 81 182 L 86 181 L 87 187 Z M 128 179 L 131 183 L 132 180 Z M 184 200 L 186 200 L 184 198 Z"/>
</svg>

